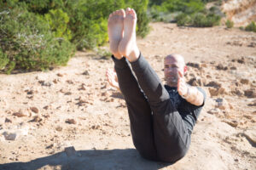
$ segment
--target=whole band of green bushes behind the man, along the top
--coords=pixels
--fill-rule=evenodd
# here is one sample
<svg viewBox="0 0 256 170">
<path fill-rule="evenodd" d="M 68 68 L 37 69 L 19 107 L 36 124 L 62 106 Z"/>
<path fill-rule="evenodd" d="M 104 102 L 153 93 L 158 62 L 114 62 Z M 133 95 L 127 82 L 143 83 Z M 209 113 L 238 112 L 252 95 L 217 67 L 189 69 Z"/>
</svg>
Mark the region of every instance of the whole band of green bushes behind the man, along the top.
<svg viewBox="0 0 256 170">
<path fill-rule="evenodd" d="M 221 1 L 215 0 L 212 8 L 206 8 L 209 2 L 212 1 L 1 0 L 0 71 L 44 71 L 66 65 L 76 50 L 97 49 L 108 42 L 108 15 L 119 8 L 135 8 L 140 37 L 147 36 L 149 21 L 216 26 L 223 16 L 218 8 Z"/>
</svg>

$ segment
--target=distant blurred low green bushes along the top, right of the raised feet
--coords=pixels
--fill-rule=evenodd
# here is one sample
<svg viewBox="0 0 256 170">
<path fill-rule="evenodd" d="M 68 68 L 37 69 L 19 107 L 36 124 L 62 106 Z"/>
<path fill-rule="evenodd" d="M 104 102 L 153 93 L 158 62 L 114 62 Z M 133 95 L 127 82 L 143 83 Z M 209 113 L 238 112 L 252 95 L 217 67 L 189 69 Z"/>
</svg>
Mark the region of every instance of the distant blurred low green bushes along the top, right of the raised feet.
<svg viewBox="0 0 256 170">
<path fill-rule="evenodd" d="M 150 3 L 150 14 L 155 21 L 177 22 L 177 26 L 217 26 L 222 17 L 219 8 L 205 8 L 209 0 L 159 0 Z M 172 13 L 172 16 L 170 15 Z M 168 16 L 168 17 L 166 17 Z"/>
</svg>

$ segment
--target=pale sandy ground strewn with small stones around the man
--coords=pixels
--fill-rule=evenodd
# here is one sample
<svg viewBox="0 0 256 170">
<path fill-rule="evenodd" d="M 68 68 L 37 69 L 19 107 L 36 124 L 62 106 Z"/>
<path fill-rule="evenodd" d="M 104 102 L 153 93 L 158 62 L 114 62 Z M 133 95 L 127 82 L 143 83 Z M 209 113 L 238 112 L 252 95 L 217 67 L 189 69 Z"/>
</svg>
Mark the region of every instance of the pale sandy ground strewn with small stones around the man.
<svg viewBox="0 0 256 170">
<path fill-rule="evenodd" d="M 189 84 L 207 92 L 181 161 L 138 155 L 125 101 L 106 82 L 112 60 L 78 52 L 53 71 L 0 75 L 0 169 L 256 169 L 256 34 L 150 26 L 138 46 L 160 78 L 166 54 L 183 54 Z"/>
</svg>

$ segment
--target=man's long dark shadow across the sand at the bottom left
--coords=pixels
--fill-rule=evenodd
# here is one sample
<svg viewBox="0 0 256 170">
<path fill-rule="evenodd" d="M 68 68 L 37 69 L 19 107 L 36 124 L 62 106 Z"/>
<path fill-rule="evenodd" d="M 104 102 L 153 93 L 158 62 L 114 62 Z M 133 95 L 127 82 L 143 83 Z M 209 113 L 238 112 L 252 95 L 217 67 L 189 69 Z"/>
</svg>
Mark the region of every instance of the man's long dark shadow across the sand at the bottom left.
<svg viewBox="0 0 256 170">
<path fill-rule="evenodd" d="M 27 162 L 11 162 L 0 165 L 1 170 L 156 170 L 170 164 L 148 161 L 137 150 L 78 150 L 73 156 L 65 151 Z"/>
</svg>

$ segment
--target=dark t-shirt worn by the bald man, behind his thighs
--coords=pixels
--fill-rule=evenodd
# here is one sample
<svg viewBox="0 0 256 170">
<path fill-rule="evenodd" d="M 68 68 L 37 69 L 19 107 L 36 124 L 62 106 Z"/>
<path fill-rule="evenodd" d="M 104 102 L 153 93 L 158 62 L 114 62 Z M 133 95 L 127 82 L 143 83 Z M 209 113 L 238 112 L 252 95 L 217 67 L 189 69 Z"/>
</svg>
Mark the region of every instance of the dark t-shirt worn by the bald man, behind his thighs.
<svg viewBox="0 0 256 170">
<path fill-rule="evenodd" d="M 183 99 L 177 93 L 177 88 L 172 88 L 167 85 L 165 85 L 165 88 L 170 96 L 170 99 L 175 105 L 180 116 L 182 116 L 184 123 L 188 126 L 191 133 L 193 130 L 193 127 L 195 126 L 195 122 L 197 121 L 197 118 L 201 113 L 201 109 L 205 105 L 205 100 L 207 98 L 205 91 L 202 88 L 197 88 L 204 95 L 203 104 L 197 106 L 197 105 L 192 105 L 186 99 Z"/>
</svg>

